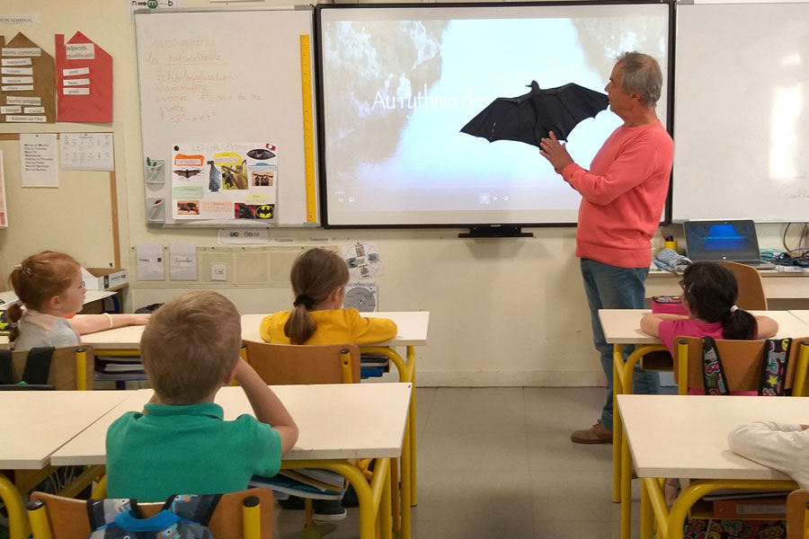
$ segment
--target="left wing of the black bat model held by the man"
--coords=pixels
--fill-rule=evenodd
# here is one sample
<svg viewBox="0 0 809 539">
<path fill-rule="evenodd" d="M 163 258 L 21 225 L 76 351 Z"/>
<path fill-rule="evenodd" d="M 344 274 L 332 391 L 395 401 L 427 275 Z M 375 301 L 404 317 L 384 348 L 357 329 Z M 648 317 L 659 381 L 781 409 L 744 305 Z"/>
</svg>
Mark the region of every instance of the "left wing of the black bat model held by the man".
<svg viewBox="0 0 809 539">
<path fill-rule="evenodd" d="M 536 84 L 536 83 L 534 83 Z M 538 146 L 534 137 L 536 112 L 531 97 L 534 90 L 519 97 L 498 97 L 466 126 L 461 133 L 473 137 L 484 137 L 489 142 L 495 140 L 516 140 Z"/>
</svg>

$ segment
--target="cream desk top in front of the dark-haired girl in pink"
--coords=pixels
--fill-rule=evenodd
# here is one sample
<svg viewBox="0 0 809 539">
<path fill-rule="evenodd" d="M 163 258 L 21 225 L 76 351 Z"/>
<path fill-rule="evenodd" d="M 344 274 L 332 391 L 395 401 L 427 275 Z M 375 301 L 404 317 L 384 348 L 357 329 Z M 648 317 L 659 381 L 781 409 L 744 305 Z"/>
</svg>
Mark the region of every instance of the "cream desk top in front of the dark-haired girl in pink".
<svg viewBox="0 0 809 539">
<path fill-rule="evenodd" d="M 604 338 L 610 344 L 659 344 L 657 337 L 646 335 L 640 329 L 640 319 L 648 309 L 600 309 L 599 319 Z M 809 323 L 799 320 L 790 311 L 750 311 L 756 316 L 769 316 L 778 322 L 776 337 L 809 336 Z"/>
</svg>

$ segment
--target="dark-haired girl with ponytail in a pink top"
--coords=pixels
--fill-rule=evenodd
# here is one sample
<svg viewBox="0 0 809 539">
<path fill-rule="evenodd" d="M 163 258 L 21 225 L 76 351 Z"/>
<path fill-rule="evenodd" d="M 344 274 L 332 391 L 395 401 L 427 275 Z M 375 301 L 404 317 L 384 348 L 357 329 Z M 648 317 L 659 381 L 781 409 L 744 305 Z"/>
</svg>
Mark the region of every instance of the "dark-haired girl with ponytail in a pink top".
<svg viewBox="0 0 809 539">
<path fill-rule="evenodd" d="M 753 316 L 736 306 L 739 284 L 730 270 L 715 262 L 695 262 L 680 281 L 682 305 L 688 316 L 646 314 L 641 330 L 660 340 L 674 354 L 674 338 L 767 339 L 778 332 L 778 323 L 768 316 Z"/>
</svg>

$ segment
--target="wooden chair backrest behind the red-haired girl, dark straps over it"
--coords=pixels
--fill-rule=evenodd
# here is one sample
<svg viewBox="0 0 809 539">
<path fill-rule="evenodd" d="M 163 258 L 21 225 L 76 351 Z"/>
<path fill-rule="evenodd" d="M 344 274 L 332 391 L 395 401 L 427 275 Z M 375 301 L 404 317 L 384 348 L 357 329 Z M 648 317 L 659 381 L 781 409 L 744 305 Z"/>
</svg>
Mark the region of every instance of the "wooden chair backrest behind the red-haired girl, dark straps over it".
<svg viewBox="0 0 809 539">
<path fill-rule="evenodd" d="M 22 379 L 28 352 L 12 352 L 12 378 Z M 93 347 L 86 344 L 53 350 L 48 384 L 58 391 L 93 389 Z"/>
</svg>

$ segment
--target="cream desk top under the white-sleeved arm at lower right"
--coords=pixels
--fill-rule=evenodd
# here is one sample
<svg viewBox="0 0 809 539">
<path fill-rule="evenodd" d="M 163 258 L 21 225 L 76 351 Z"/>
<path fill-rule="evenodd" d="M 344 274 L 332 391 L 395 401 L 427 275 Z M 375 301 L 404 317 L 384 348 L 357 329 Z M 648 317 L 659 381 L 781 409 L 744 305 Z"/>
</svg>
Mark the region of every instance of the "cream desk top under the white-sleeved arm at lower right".
<svg viewBox="0 0 809 539">
<path fill-rule="evenodd" d="M 785 480 L 782 473 L 733 453 L 727 433 L 744 423 L 805 423 L 805 397 L 618 395 L 640 477 Z"/>
</svg>

